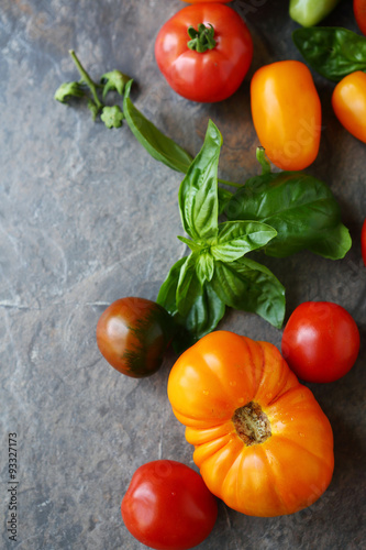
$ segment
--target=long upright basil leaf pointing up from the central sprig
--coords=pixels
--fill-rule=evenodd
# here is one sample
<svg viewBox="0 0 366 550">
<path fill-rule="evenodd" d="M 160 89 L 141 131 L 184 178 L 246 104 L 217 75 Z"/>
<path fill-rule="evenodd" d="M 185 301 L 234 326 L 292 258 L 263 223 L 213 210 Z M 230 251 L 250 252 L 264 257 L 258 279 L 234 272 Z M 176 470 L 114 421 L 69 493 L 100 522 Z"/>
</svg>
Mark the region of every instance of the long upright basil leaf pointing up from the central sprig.
<svg viewBox="0 0 366 550">
<path fill-rule="evenodd" d="M 178 200 L 181 223 L 195 241 L 218 232 L 218 165 L 222 136 L 209 121 L 201 151 L 180 184 Z"/>
</svg>

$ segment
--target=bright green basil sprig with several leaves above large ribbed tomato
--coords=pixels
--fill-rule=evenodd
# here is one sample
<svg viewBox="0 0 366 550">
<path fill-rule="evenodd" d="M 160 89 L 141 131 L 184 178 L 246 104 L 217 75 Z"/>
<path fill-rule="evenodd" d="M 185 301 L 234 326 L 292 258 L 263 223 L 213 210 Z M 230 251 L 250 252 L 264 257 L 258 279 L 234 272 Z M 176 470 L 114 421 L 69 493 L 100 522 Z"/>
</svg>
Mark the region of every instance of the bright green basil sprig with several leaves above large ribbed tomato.
<svg viewBox="0 0 366 550">
<path fill-rule="evenodd" d="M 256 312 L 278 328 L 284 321 L 285 288 L 269 270 L 244 257 L 266 246 L 276 230 L 255 220 L 218 221 L 221 145 L 222 136 L 210 121 L 203 146 L 179 188 L 188 235 L 179 239 L 191 253 L 173 266 L 157 297 L 181 327 L 175 339 L 178 348 L 181 339 L 191 344 L 213 330 L 225 306 Z"/>
</svg>

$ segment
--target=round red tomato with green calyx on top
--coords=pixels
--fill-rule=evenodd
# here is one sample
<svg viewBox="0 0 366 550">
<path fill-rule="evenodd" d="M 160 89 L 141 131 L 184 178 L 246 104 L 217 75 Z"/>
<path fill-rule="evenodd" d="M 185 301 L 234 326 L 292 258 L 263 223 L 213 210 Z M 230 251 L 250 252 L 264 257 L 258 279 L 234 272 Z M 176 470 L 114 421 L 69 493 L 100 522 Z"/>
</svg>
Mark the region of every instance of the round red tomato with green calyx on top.
<svg viewBox="0 0 366 550">
<path fill-rule="evenodd" d="M 177 94 L 191 101 L 221 101 L 242 84 L 253 43 L 232 8 L 204 2 L 184 8 L 163 25 L 155 57 Z"/>
</svg>

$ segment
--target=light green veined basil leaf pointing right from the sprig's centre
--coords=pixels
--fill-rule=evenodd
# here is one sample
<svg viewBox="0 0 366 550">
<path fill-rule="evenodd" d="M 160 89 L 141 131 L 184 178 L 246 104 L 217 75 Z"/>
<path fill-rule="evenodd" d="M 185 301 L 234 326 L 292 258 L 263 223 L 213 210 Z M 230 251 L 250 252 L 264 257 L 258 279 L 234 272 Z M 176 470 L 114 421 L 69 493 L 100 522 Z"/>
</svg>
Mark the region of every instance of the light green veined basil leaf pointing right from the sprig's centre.
<svg viewBox="0 0 366 550">
<path fill-rule="evenodd" d="M 233 262 L 251 250 L 265 246 L 276 234 L 275 229 L 258 221 L 226 221 L 219 226 L 211 254 L 221 262 Z"/>
</svg>

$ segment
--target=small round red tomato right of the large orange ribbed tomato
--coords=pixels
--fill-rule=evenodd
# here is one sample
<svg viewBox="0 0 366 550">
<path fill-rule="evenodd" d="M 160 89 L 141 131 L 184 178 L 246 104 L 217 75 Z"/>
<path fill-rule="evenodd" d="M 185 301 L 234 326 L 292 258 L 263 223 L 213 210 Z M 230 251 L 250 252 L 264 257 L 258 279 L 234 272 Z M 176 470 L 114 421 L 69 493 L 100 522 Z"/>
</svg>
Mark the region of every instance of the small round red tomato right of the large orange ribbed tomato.
<svg viewBox="0 0 366 550">
<path fill-rule="evenodd" d="M 354 365 L 359 331 L 352 316 L 331 301 L 306 301 L 290 316 L 282 354 L 306 382 L 334 382 Z"/>
</svg>

